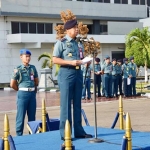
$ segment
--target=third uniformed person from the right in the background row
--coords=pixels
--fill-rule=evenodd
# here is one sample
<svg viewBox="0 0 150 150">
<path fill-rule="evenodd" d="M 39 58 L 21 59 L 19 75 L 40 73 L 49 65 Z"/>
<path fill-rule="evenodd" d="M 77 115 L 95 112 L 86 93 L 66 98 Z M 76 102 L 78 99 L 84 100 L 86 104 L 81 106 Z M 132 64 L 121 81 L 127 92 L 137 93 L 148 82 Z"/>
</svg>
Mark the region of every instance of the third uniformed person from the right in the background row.
<svg viewBox="0 0 150 150">
<path fill-rule="evenodd" d="M 122 92 L 122 61 L 121 59 L 117 60 L 117 94 L 118 88 L 120 95 L 123 95 Z"/>
</svg>

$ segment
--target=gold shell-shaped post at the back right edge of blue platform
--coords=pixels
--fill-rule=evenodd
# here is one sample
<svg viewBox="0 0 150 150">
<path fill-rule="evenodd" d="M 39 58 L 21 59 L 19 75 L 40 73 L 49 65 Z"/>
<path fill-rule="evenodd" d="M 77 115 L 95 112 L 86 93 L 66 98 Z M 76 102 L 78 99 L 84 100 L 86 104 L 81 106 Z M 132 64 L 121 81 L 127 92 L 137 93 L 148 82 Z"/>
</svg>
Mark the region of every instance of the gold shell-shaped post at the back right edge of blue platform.
<svg viewBox="0 0 150 150">
<path fill-rule="evenodd" d="M 123 101 L 122 101 L 121 95 L 120 95 L 120 97 L 119 97 L 119 126 L 120 126 L 120 129 L 121 129 L 121 130 L 124 129 L 124 120 L 123 120 Z"/>
</svg>

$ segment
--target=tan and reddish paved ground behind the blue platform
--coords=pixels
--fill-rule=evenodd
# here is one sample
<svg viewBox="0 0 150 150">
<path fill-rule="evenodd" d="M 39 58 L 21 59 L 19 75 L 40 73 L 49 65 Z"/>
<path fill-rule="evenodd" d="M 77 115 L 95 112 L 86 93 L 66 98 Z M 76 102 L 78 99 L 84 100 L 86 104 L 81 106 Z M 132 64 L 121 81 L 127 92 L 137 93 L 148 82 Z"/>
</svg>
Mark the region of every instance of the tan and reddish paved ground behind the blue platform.
<svg viewBox="0 0 150 150">
<path fill-rule="evenodd" d="M 39 92 L 37 94 L 37 120 L 41 120 L 41 100 L 45 98 L 47 111 L 51 118 L 59 118 L 59 95 L 60 93 Z M 124 111 L 129 112 L 133 130 L 150 131 L 150 99 L 144 97 L 123 99 Z M 91 126 L 94 126 L 94 105 L 93 101 L 83 101 L 82 108 L 85 110 Z M 118 111 L 118 99 L 97 98 L 97 124 L 101 127 L 110 128 L 116 112 Z M 16 92 L 0 91 L 0 137 L 3 136 L 4 114 L 9 116 L 10 133 L 15 135 L 15 116 L 16 116 Z M 26 129 L 24 134 L 28 134 Z M 85 125 L 83 121 L 83 125 Z M 118 124 L 116 128 L 119 128 Z M 94 132 L 94 131 L 93 131 Z"/>
</svg>

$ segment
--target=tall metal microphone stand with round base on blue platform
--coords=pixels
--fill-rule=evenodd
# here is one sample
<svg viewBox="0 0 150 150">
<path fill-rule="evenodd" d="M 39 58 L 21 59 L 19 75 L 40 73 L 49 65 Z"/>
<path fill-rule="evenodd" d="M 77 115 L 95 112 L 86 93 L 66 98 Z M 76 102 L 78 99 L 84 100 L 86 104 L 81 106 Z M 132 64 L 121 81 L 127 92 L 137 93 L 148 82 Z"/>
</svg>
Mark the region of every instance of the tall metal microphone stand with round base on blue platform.
<svg viewBox="0 0 150 150">
<path fill-rule="evenodd" d="M 95 73 L 95 52 L 93 52 L 93 74 Z M 96 92 L 95 92 L 95 74 L 93 75 L 93 94 L 94 94 L 94 121 L 95 121 L 95 137 L 89 140 L 89 143 L 101 143 L 104 142 L 103 139 L 97 138 L 97 113 L 96 113 Z"/>
</svg>

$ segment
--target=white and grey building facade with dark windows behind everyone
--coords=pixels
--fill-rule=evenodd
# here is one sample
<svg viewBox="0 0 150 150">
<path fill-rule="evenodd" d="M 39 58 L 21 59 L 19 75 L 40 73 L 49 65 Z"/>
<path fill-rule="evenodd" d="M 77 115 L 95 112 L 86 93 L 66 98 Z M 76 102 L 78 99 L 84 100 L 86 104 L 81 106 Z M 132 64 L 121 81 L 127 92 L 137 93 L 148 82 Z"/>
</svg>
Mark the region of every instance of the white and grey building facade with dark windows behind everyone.
<svg viewBox="0 0 150 150">
<path fill-rule="evenodd" d="M 0 0 L 0 83 L 10 82 L 22 48 L 31 50 L 31 64 L 40 73 L 38 56 L 52 52 L 54 26 L 62 23 L 60 12 L 67 9 L 88 25 L 88 36 L 101 43 L 101 59 L 123 58 L 125 35 L 143 28 L 139 19 L 148 17 L 147 4 L 149 0 Z"/>
</svg>

